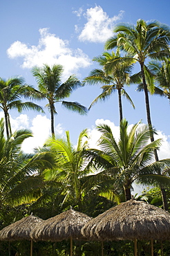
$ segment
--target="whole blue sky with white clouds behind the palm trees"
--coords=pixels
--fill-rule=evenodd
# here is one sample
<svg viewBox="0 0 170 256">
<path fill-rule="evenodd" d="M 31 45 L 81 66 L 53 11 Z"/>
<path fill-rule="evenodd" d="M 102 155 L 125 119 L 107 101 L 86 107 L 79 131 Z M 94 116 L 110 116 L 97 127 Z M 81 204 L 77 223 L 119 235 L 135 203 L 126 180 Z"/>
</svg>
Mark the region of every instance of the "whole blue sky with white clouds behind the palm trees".
<svg viewBox="0 0 170 256">
<path fill-rule="evenodd" d="M 83 80 L 97 64 L 93 57 L 102 55 L 104 42 L 113 35 L 113 27 L 120 22 L 136 24 L 138 19 L 156 19 L 170 25 L 169 1 L 122 0 L 122 1 L 75 1 L 75 0 L 6 0 L 1 1 L 0 16 L 0 77 L 8 79 L 21 75 L 25 82 L 36 88 L 36 82 L 30 72 L 32 66 L 44 63 L 62 64 L 64 77 L 75 73 Z M 138 71 L 136 66 L 135 71 Z M 127 88 L 135 110 L 123 98 L 124 118 L 129 124 L 139 120 L 146 123 L 144 94 L 135 91 L 136 86 Z M 91 102 L 101 93 L 100 86 L 84 86 L 77 89 L 69 100 L 80 102 L 89 107 Z M 170 121 L 169 101 L 166 98 L 151 96 L 151 118 L 153 126 L 158 129 L 159 136 L 164 139 L 161 158 L 169 157 Z M 44 107 L 47 102 L 39 102 Z M 95 141 L 97 134 L 95 124 L 108 122 L 118 131 L 119 111 L 117 93 L 106 102 L 95 104 L 87 116 L 67 111 L 56 105 L 58 115 L 55 116 L 56 134 L 63 135 L 70 131 L 73 143 L 82 129 L 88 128 Z M 1 113 L 2 116 L 2 113 Z M 25 149 L 31 150 L 41 146 L 50 134 L 50 116 L 39 115 L 32 111 L 11 112 L 12 127 L 32 129 L 35 138 L 27 141 Z M 94 143 L 93 141 L 93 143 Z M 92 145 L 93 145 L 92 143 Z"/>
</svg>

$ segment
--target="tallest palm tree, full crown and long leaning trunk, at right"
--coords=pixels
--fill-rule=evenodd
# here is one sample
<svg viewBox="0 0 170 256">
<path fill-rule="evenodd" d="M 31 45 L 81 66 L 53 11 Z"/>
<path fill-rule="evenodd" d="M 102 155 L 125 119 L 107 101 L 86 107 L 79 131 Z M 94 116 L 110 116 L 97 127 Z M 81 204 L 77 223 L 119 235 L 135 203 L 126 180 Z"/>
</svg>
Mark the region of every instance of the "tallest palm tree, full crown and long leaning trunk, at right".
<svg viewBox="0 0 170 256">
<path fill-rule="evenodd" d="M 118 24 L 115 26 L 115 36 L 106 41 L 105 48 L 115 47 L 128 53 L 128 56 L 120 58 L 122 60 L 133 60 L 140 64 L 142 83 L 144 86 L 145 104 L 147 109 L 147 122 L 151 129 L 151 113 L 149 107 L 149 95 L 144 70 L 146 70 L 146 60 L 162 60 L 169 57 L 170 28 L 158 21 L 144 21 L 139 19 L 136 26 L 131 24 Z M 108 69 L 112 69 L 114 61 L 108 62 Z M 154 140 L 152 129 L 151 141 Z M 158 154 L 155 152 L 155 160 L 158 161 Z"/>
</svg>

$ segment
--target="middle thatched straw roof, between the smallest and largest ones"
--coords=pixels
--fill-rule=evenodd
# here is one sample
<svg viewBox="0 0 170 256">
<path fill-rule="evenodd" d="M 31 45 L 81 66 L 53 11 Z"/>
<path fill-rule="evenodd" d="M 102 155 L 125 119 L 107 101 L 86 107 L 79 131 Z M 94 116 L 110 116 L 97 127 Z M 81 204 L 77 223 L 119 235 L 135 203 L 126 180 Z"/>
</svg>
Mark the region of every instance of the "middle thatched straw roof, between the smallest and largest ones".
<svg viewBox="0 0 170 256">
<path fill-rule="evenodd" d="M 83 239 L 80 230 L 89 220 L 91 217 L 86 214 L 70 209 L 41 223 L 40 226 L 32 230 L 30 237 L 35 241 L 62 241 L 70 237 Z"/>
</svg>

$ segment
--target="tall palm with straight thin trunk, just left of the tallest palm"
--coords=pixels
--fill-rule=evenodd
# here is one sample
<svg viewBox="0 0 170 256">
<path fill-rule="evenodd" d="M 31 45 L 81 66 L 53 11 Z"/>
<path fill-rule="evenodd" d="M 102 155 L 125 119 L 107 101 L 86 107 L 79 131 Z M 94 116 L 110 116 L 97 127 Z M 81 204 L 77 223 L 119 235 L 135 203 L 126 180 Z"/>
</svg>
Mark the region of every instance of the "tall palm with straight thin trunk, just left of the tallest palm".
<svg viewBox="0 0 170 256">
<path fill-rule="evenodd" d="M 103 53 L 102 56 L 95 57 L 93 60 L 98 62 L 101 66 L 103 66 L 102 69 L 94 69 L 91 71 L 90 75 L 88 77 L 85 77 L 83 83 L 88 84 L 104 84 L 101 89 L 102 93 L 93 100 L 91 103 L 91 107 L 93 104 L 98 102 L 99 100 L 106 100 L 108 99 L 113 92 L 117 90 L 118 93 L 118 101 L 119 101 L 119 110 L 120 110 L 120 122 L 123 118 L 122 113 L 122 95 L 126 97 L 127 100 L 132 104 L 133 108 L 135 108 L 131 98 L 129 97 L 128 93 L 124 90 L 124 84 L 129 84 L 130 82 L 130 74 L 131 69 L 133 67 L 132 64 L 126 64 L 126 63 L 117 63 L 110 72 L 106 71 L 106 63 L 111 60 L 117 60 L 117 58 L 120 57 L 120 54 L 117 53 Z"/>
</svg>

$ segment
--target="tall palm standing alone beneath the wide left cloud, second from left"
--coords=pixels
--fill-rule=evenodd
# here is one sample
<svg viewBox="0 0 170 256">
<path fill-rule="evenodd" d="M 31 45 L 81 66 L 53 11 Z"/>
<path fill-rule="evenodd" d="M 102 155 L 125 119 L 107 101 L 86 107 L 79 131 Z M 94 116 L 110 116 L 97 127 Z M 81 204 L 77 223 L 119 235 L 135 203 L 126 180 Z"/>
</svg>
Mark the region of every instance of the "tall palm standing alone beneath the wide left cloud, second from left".
<svg viewBox="0 0 170 256">
<path fill-rule="evenodd" d="M 36 99 L 47 99 L 48 107 L 51 118 L 51 132 L 52 136 L 55 136 L 54 129 L 54 115 L 57 114 L 55 109 L 56 102 L 62 102 L 62 105 L 71 111 L 77 111 L 80 114 L 86 114 L 86 107 L 82 106 L 78 102 L 64 101 L 64 98 L 68 98 L 70 93 L 81 86 L 81 83 L 75 77 L 70 75 L 66 82 L 62 82 L 62 73 L 64 69 L 62 65 L 53 65 L 51 68 L 47 64 L 44 64 L 42 68 L 35 66 L 32 68 L 32 75 L 37 80 L 39 91 L 32 94 L 32 97 Z"/>
</svg>

